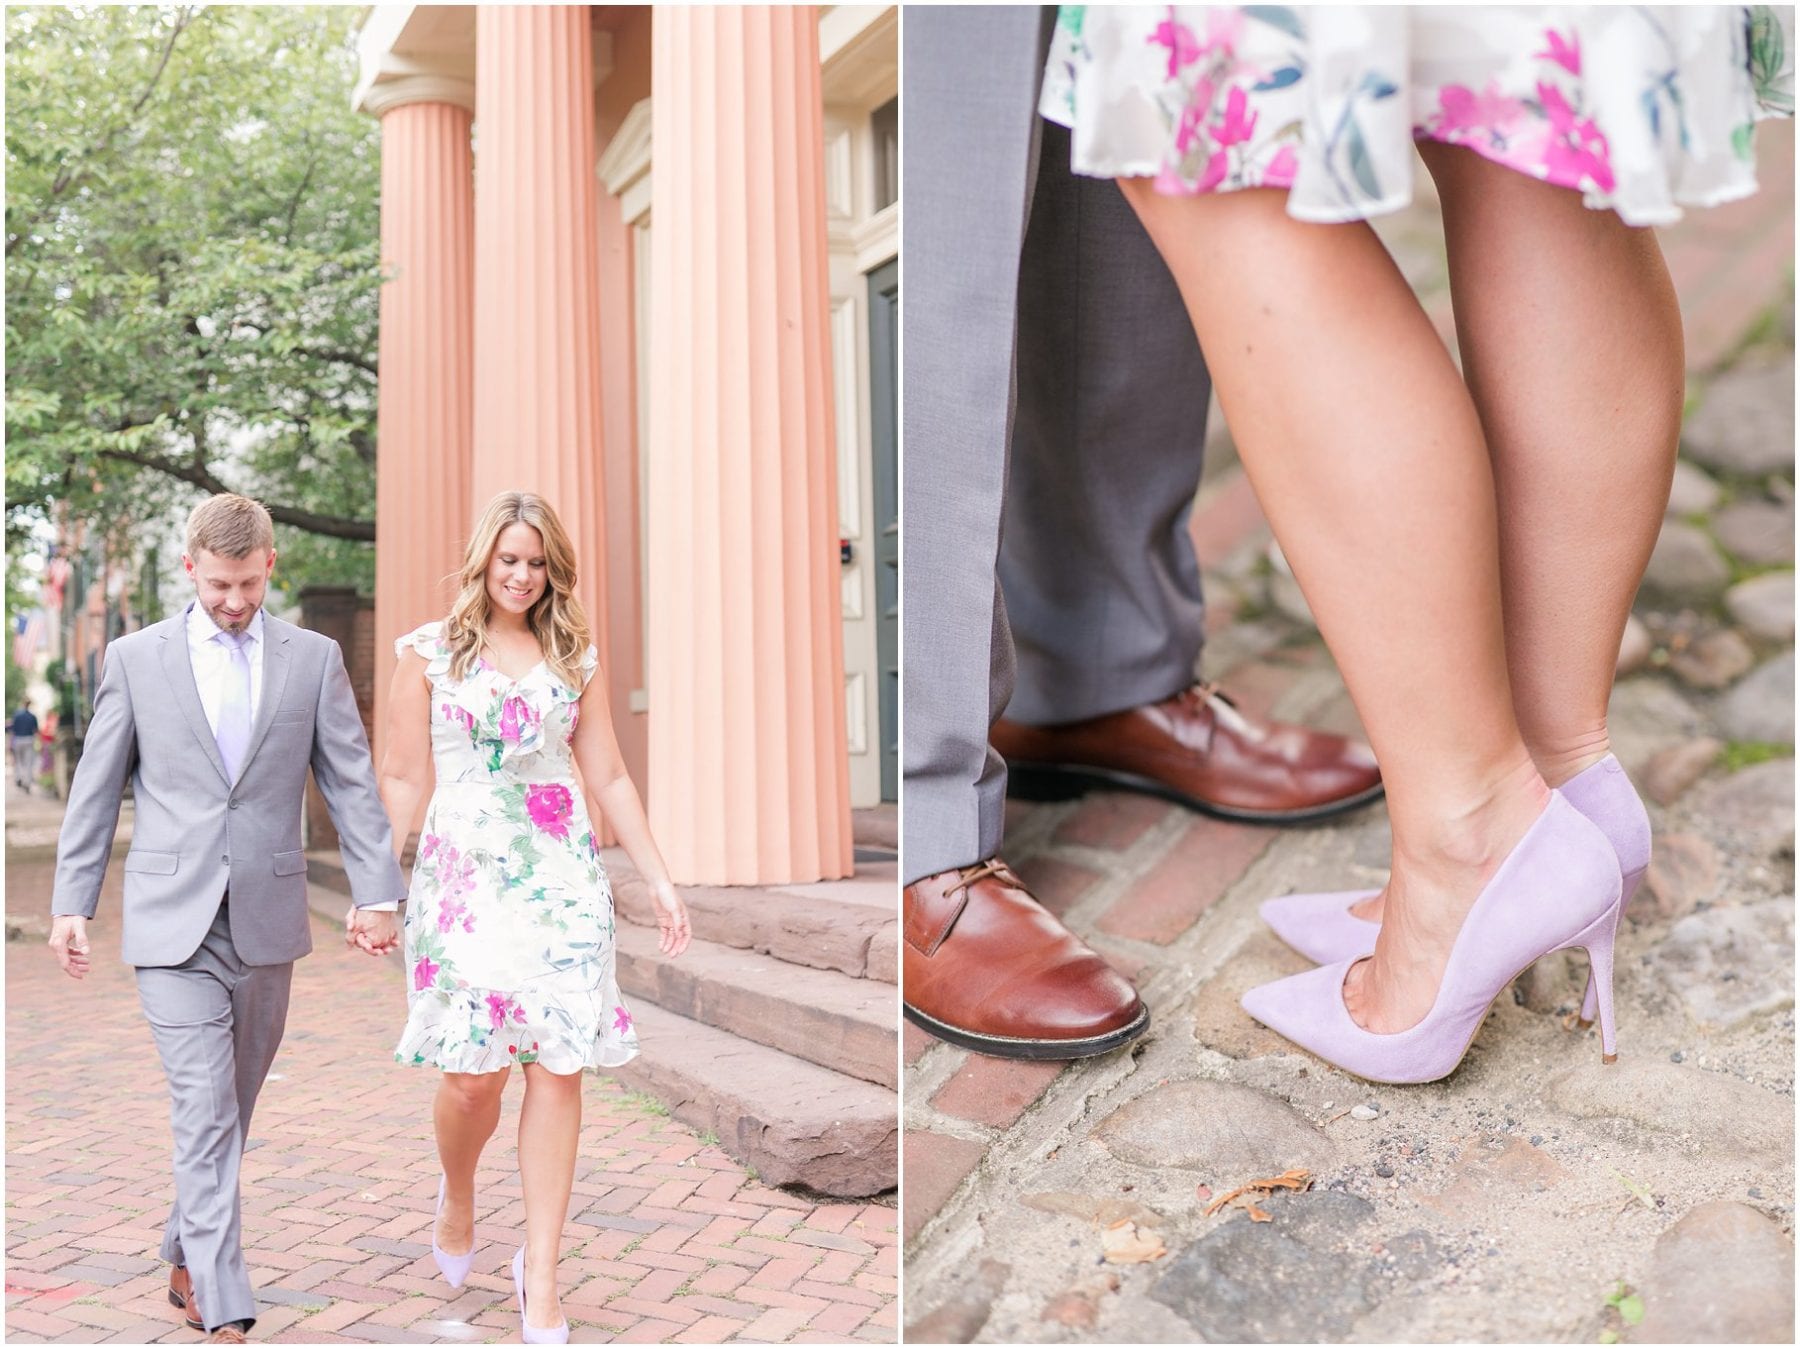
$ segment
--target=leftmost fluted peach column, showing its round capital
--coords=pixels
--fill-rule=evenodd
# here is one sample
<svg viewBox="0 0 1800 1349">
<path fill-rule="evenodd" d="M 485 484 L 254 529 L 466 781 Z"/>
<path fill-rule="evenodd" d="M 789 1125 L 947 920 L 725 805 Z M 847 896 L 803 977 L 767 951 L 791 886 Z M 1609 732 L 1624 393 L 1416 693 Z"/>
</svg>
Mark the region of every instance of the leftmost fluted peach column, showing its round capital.
<svg viewBox="0 0 1800 1349">
<path fill-rule="evenodd" d="M 374 488 L 374 742 L 387 735 L 394 638 L 441 618 L 470 512 L 475 222 L 468 81 L 376 85 L 382 119 L 380 380 Z"/>
</svg>

